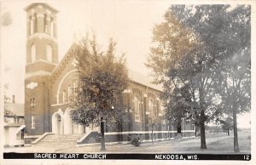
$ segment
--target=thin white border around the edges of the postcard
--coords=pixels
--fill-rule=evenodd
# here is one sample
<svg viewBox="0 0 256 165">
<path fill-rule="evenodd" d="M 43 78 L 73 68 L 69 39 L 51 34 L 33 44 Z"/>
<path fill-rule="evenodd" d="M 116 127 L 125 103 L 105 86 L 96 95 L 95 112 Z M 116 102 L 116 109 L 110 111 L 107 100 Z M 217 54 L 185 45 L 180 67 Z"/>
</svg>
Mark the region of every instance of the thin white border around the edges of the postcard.
<svg viewBox="0 0 256 165">
<path fill-rule="evenodd" d="M 9 0 L 11 1 L 11 0 Z M 143 1 L 143 0 L 142 0 Z M 152 0 L 148 0 L 148 1 L 152 1 Z M 167 0 L 164 0 L 167 1 Z M 100 3 L 100 1 L 98 1 Z M 129 2 L 129 1 L 128 1 Z M 157 2 L 155 0 L 155 2 Z M 220 0 L 170 0 L 170 3 L 205 3 L 205 4 L 212 4 L 212 3 L 231 3 L 231 4 L 236 4 L 236 3 L 250 3 L 252 4 L 252 84 L 255 84 L 255 78 L 253 76 L 255 76 L 255 69 L 256 69 L 256 65 L 255 65 L 255 2 L 253 0 L 243 0 L 243 1 L 236 1 L 236 0 L 226 0 L 226 1 L 220 1 Z M 1 4 L 0 4 L 1 6 Z M 0 27 L 1 30 L 1 27 Z M 2 42 L 2 41 L 0 41 Z M 0 47 L 1 48 L 1 47 Z M 0 67 L 1 67 L 1 71 L 0 71 L 0 83 L 1 83 L 1 88 L 0 88 L 0 116 L 3 117 L 3 60 L 0 57 Z M 254 94 L 256 94 L 256 88 L 255 85 L 252 86 L 252 100 L 256 100 Z M 252 101 L 252 111 L 251 111 L 251 118 L 253 119 L 253 117 L 256 116 L 256 105 L 255 103 Z M 140 160 L 125 160 L 125 161 L 120 161 L 120 160 L 104 160 L 104 161 L 98 161 L 98 160 L 86 160 L 86 163 L 88 164 L 113 164 L 113 163 L 123 163 L 123 164 L 140 164 L 140 165 L 148 165 L 148 164 L 214 164 L 216 165 L 218 164 L 225 164 L 225 165 L 233 165 L 233 164 L 239 164 L 239 165 L 245 165 L 245 164 L 256 164 L 256 150 L 255 150 L 255 134 L 256 134 L 256 130 L 255 130 L 255 126 L 256 126 L 256 121 L 251 120 L 251 134 L 252 134 L 252 160 L 250 162 L 244 162 L 244 161 L 154 161 L 154 160 L 150 160 L 150 161 L 140 161 Z M 3 126 L 3 120 L 0 120 L 1 125 Z M 0 128 L 0 134 L 3 134 L 3 127 Z M 3 141 L 0 140 L 0 145 L 3 146 Z M 1 148 L 1 152 L 3 153 L 3 147 Z M 1 154 L 0 156 L 0 162 L 3 162 L 3 155 Z M 4 160 L 4 164 L 84 164 L 84 160 Z"/>
</svg>

